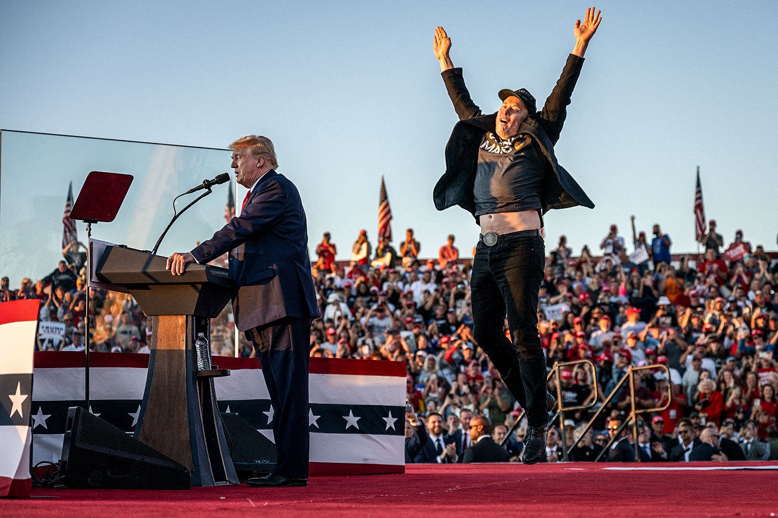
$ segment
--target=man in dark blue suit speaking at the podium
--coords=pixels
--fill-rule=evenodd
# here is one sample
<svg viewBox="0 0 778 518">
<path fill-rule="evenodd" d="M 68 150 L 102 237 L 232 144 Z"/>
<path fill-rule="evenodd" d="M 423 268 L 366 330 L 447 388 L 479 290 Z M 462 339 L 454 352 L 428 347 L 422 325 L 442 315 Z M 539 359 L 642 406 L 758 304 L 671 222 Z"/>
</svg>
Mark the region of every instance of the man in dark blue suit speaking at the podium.
<svg viewBox="0 0 778 518">
<path fill-rule="evenodd" d="M 240 216 L 191 252 L 167 259 L 173 275 L 230 252 L 237 329 L 254 343 L 272 404 L 278 461 L 270 475 L 249 485 L 282 487 L 308 481 L 308 353 L 311 319 L 319 308 L 310 276 L 308 231 L 296 186 L 275 172 L 267 137 L 230 145 L 235 179 L 249 192 Z"/>
</svg>

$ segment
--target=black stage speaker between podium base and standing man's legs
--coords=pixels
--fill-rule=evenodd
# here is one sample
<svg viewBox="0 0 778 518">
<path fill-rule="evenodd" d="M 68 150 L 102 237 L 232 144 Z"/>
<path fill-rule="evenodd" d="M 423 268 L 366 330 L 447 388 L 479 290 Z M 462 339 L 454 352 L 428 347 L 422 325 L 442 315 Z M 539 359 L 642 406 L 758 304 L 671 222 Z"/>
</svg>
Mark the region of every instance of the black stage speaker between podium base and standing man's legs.
<svg viewBox="0 0 778 518">
<path fill-rule="evenodd" d="M 275 444 L 240 415 L 221 412 L 224 435 L 235 471 L 270 471 L 278 456 Z M 240 475 L 240 474 L 239 474 Z"/>
</svg>

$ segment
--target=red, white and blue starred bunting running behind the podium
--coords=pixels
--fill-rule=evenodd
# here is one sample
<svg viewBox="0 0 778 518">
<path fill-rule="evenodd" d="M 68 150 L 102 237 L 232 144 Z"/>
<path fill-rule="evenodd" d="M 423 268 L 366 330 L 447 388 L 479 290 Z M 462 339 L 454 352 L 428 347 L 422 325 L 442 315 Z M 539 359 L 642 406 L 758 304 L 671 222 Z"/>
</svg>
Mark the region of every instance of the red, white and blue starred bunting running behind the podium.
<svg viewBox="0 0 778 518">
<path fill-rule="evenodd" d="M 127 433 L 135 430 L 147 354 L 93 353 L 90 412 Z M 215 379 L 222 412 L 235 412 L 273 439 L 274 408 L 255 359 L 214 356 L 232 370 Z M 405 363 L 310 359 L 312 475 L 405 471 Z M 82 404 L 83 354 L 36 353 L 33 461 L 58 461 L 68 407 Z"/>
</svg>

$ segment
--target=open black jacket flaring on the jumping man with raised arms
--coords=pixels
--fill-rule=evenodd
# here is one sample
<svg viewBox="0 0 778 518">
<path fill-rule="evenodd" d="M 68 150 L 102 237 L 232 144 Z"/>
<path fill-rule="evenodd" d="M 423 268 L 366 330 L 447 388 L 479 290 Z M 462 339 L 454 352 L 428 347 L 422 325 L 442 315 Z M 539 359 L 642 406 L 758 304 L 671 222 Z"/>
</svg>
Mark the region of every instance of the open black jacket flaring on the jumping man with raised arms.
<svg viewBox="0 0 778 518">
<path fill-rule="evenodd" d="M 584 189 L 559 165 L 554 155 L 554 144 L 559 140 L 567 116 L 566 106 L 570 103 L 583 63 L 583 57 L 570 54 L 543 109 L 531 113 L 519 127 L 520 133 L 531 135 L 540 155 L 548 160 L 548 172 L 541 188 L 544 214 L 549 209 L 576 205 L 594 208 L 594 203 L 584 193 Z M 470 93 L 464 85 L 461 68 L 443 71 L 443 82 L 446 83 L 460 122 L 454 126 L 446 145 L 446 172 L 435 186 L 433 199 L 437 210 L 459 205 L 475 217 L 473 186 L 478 168 L 478 146 L 487 131 L 495 131 L 497 114 L 481 115 L 480 108 L 470 99 Z M 478 221 L 478 217 L 475 218 Z"/>
</svg>

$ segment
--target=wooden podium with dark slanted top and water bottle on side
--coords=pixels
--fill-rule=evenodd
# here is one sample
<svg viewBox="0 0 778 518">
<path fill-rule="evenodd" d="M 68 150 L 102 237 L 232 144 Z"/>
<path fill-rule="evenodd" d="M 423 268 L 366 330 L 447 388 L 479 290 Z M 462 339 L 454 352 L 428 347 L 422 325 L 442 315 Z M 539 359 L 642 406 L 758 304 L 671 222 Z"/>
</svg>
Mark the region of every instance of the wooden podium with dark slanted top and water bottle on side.
<svg viewBox="0 0 778 518">
<path fill-rule="evenodd" d="M 131 294 L 152 316 L 135 438 L 189 468 L 193 486 L 239 483 L 213 388 L 213 377 L 230 371 L 212 367 L 210 349 L 195 347 L 200 333 L 210 338 L 210 319 L 230 301 L 228 270 L 193 263 L 173 276 L 165 257 L 104 242 L 89 246 L 92 284 Z"/>
</svg>

